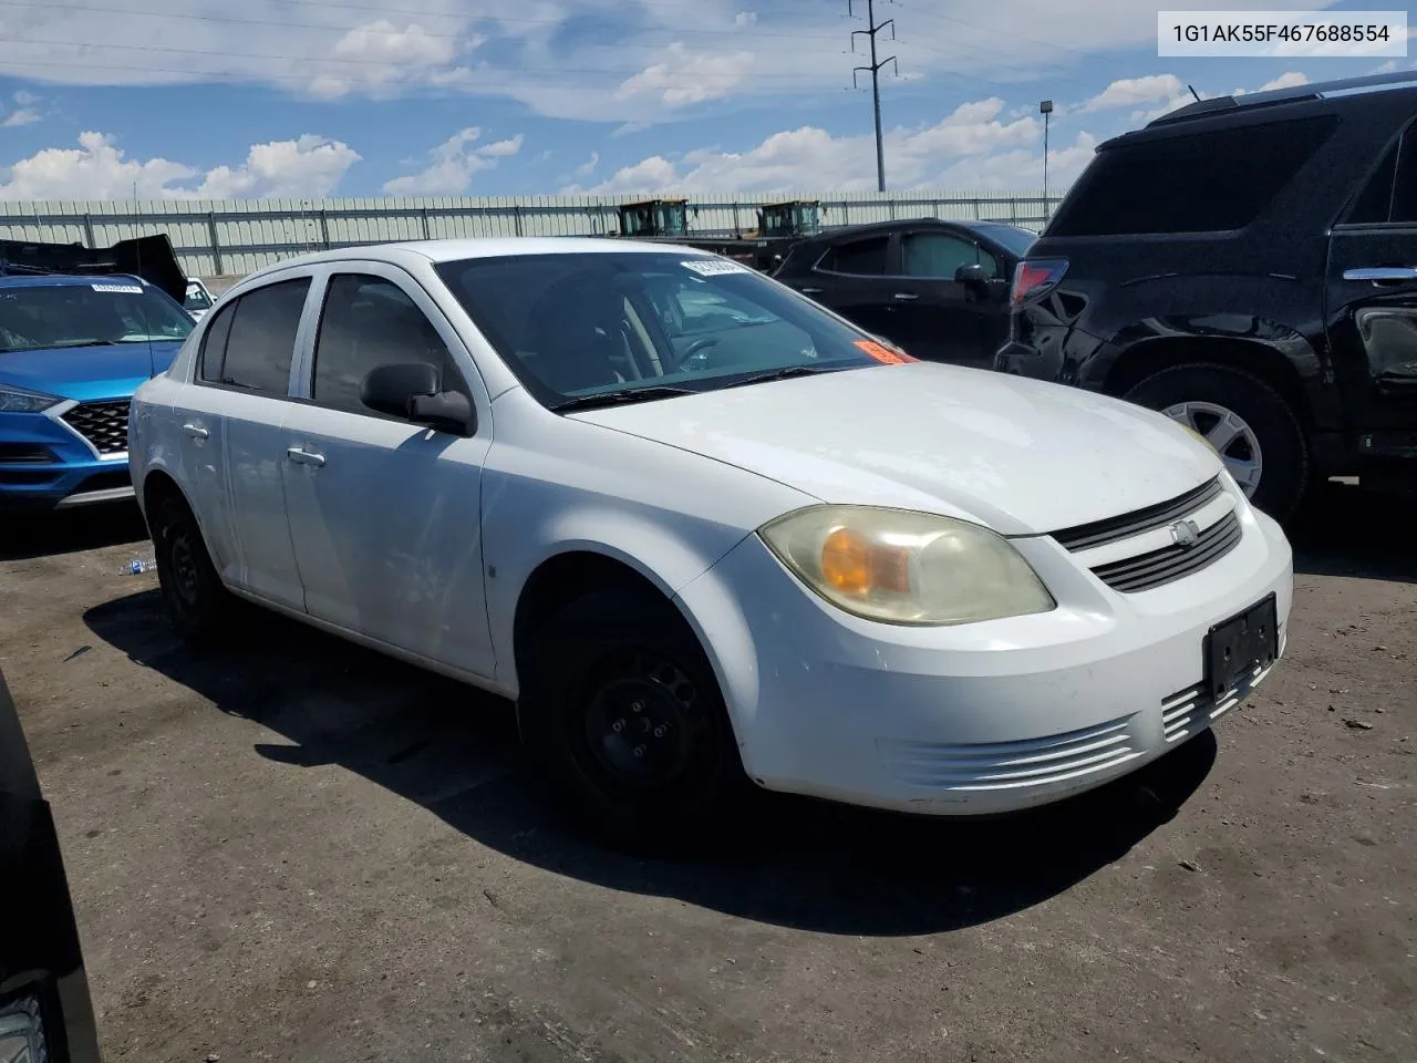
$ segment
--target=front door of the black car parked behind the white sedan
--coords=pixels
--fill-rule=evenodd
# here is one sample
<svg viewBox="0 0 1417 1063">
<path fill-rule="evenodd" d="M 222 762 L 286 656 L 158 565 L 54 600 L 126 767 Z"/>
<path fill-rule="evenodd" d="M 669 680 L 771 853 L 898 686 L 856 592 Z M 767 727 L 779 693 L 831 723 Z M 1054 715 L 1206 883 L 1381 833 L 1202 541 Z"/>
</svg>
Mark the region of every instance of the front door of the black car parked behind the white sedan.
<svg viewBox="0 0 1417 1063">
<path fill-rule="evenodd" d="M 955 281 L 959 266 L 985 266 L 985 283 Z M 917 359 L 990 369 L 1009 330 L 1003 264 L 972 237 L 921 228 L 901 234 L 901 276 L 891 295 L 897 337 Z"/>
</svg>

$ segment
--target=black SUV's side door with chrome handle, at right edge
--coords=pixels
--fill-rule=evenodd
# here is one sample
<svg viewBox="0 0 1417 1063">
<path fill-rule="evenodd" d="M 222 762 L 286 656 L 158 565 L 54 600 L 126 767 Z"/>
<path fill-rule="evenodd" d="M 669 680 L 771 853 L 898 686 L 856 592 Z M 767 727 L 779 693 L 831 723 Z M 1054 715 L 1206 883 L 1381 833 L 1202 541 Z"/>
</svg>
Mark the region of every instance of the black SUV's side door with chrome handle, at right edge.
<svg viewBox="0 0 1417 1063">
<path fill-rule="evenodd" d="M 1417 445 L 1417 125 L 1333 227 L 1326 299 L 1329 346 L 1359 452 Z"/>
</svg>

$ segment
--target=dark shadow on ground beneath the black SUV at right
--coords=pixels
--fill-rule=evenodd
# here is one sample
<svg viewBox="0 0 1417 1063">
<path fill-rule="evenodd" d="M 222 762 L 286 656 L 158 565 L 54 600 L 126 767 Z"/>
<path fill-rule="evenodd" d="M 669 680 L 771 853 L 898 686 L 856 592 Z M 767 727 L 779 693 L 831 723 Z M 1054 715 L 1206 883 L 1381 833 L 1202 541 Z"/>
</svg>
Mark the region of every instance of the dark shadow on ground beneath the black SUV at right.
<svg viewBox="0 0 1417 1063">
<path fill-rule="evenodd" d="M 1417 493 L 1325 483 L 1288 534 L 1297 573 L 1417 583 Z"/>
</svg>

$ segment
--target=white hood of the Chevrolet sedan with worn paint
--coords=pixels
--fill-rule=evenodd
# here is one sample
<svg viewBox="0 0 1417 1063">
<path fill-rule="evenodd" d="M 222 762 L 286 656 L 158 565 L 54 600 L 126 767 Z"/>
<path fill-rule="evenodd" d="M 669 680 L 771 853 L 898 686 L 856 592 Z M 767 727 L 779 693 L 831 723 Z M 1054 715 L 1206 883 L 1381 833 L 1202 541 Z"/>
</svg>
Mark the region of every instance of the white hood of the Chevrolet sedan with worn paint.
<svg viewBox="0 0 1417 1063">
<path fill-rule="evenodd" d="M 572 414 L 823 502 L 1039 534 L 1200 486 L 1216 454 L 1161 414 L 938 363 L 881 366 Z"/>
</svg>

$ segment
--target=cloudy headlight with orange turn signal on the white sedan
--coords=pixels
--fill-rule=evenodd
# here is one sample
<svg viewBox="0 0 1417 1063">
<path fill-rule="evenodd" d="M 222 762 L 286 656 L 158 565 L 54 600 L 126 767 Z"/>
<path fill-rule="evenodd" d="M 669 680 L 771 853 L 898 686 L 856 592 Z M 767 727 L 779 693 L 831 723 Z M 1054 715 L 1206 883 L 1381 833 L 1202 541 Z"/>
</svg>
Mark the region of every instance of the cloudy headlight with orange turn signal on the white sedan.
<svg viewBox="0 0 1417 1063">
<path fill-rule="evenodd" d="M 812 506 L 758 532 L 833 605 L 884 624 L 969 624 L 1057 602 L 1003 536 L 979 524 L 873 506 Z"/>
</svg>

